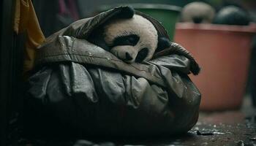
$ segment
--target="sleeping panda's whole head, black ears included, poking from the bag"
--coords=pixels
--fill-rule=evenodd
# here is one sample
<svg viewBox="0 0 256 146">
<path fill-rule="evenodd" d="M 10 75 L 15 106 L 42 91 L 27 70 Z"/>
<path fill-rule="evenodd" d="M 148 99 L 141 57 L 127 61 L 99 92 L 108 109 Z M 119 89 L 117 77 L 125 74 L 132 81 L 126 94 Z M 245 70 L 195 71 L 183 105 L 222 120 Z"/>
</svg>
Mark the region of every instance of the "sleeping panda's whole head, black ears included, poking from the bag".
<svg viewBox="0 0 256 146">
<path fill-rule="evenodd" d="M 157 20 L 132 7 L 98 23 L 86 39 L 127 63 L 148 61 L 171 44 Z"/>
</svg>

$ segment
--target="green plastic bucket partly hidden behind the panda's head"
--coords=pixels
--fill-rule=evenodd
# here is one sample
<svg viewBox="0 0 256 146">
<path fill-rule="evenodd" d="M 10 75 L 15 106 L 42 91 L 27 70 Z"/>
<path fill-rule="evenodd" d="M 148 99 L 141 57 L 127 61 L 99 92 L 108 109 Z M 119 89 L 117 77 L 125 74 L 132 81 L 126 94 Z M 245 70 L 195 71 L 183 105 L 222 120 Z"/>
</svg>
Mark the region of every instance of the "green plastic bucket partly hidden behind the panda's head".
<svg viewBox="0 0 256 146">
<path fill-rule="evenodd" d="M 102 6 L 100 7 L 100 10 L 104 11 L 116 6 L 124 5 L 131 6 L 134 9 L 159 20 L 159 22 L 162 23 L 162 26 L 165 27 L 170 39 L 173 40 L 175 26 L 176 23 L 178 22 L 181 7 L 168 4 L 115 4 Z"/>
</svg>

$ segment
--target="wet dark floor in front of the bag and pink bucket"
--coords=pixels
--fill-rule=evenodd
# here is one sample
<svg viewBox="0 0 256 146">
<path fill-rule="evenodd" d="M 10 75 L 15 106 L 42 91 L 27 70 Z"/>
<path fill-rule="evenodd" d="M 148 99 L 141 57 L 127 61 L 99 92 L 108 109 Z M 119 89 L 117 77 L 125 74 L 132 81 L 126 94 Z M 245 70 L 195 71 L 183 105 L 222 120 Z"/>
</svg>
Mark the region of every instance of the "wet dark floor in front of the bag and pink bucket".
<svg viewBox="0 0 256 146">
<path fill-rule="evenodd" d="M 105 139 L 106 140 L 106 139 Z M 36 140 L 37 141 L 37 140 Z M 73 145 L 73 146 L 115 146 L 115 145 L 230 145 L 256 146 L 256 109 L 243 106 L 240 110 L 225 112 L 200 112 L 197 124 L 180 136 L 167 136 L 157 139 L 123 139 L 114 142 L 32 142 L 34 145 Z M 26 142 L 25 142 L 26 143 Z M 28 144 L 28 143 L 27 143 Z"/>
</svg>

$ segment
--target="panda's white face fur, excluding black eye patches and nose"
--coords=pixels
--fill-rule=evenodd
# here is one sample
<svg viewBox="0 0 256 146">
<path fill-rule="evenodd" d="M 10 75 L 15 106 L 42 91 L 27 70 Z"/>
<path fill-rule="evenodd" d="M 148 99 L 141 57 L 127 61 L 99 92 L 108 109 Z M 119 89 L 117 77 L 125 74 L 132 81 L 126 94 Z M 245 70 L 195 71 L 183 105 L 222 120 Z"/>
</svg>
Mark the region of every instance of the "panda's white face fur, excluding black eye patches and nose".
<svg viewBox="0 0 256 146">
<path fill-rule="evenodd" d="M 149 20 L 140 15 L 134 15 L 133 18 L 129 19 L 113 20 L 104 29 L 104 39 L 107 45 L 113 45 L 113 40 L 116 37 L 127 36 L 129 34 L 136 34 L 140 37 L 135 46 L 116 46 L 110 50 L 111 53 L 121 59 L 124 59 L 126 57 L 125 54 L 129 53 L 132 60 L 127 62 L 134 62 L 138 52 L 144 47 L 148 48 L 148 55 L 143 61 L 148 61 L 157 49 L 158 36 L 156 28 L 154 28 Z"/>
</svg>

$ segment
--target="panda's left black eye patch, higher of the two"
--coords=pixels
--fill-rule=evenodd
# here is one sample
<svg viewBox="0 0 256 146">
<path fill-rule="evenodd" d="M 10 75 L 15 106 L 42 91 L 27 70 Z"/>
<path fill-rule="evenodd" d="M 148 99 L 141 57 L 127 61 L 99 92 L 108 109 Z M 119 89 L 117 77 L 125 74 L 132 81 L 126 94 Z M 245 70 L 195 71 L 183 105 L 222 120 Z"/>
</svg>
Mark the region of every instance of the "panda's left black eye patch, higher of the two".
<svg viewBox="0 0 256 146">
<path fill-rule="evenodd" d="M 121 36 L 121 37 L 116 37 L 116 39 L 113 41 L 112 47 L 118 46 L 118 45 L 131 45 L 135 46 L 140 37 L 135 34 L 129 34 L 128 36 Z"/>
</svg>

